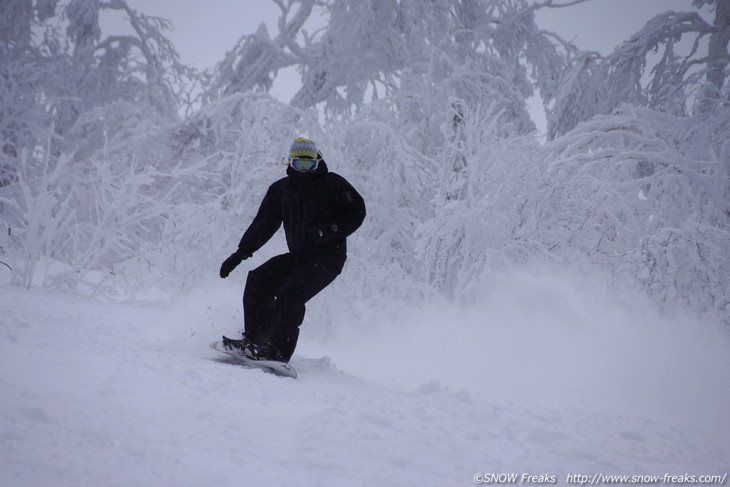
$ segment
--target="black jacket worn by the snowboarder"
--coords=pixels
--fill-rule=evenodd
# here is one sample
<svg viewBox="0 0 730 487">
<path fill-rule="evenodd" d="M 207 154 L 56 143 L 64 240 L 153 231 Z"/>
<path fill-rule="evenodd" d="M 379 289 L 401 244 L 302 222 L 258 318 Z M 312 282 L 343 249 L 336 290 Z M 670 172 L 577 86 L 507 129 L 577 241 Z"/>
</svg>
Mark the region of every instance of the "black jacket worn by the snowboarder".
<svg viewBox="0 0 730 487">
<path fill-rule="evenodd" d="M 362 196 L 345 178 L 329 172 L 324 161 L 311 173 L 289 167 L 287 176 L 269 187 L 238 249 L 243 255 L 253 254 L 283 222 L 289 252 L 344 255 L 345 238 L 364 219 Z"/>
</svg>

